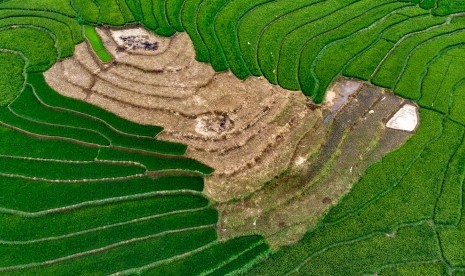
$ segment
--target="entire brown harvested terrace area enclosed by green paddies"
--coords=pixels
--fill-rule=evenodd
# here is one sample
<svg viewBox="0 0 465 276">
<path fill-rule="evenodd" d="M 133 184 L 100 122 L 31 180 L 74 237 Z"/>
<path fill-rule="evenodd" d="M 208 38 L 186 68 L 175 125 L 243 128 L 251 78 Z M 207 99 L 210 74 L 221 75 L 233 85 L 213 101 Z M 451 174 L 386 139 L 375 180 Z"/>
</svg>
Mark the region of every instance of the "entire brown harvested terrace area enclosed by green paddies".
<svg viewBox="0 0 465 276">
<path fill-rule="evenodd" d="M 188 145 L 215 169 L 205 193 L 221 211 L 223 238 L 264 234 L 295 241 L 347 193 L 368 165 L 411 133 L 386 128 L 404 101 L 340 79 L 316 106 L 302 93 L 257 77 L 240 81 L 195 60 L 187 34 L 97 29 L 114 60 L 86 43 L 45 73 L 59 93 L 123 118 L 164 128 L 157 138 Z"/>
</svg>

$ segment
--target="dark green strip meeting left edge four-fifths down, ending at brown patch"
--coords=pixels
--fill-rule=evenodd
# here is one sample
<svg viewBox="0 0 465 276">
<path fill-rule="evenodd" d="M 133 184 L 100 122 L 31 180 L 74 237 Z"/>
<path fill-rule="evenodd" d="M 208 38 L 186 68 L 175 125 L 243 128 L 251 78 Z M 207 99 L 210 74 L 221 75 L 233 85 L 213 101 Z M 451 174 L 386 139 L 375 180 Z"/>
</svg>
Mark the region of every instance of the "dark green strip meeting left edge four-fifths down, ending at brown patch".
<svg viewBox="0 0 465 276">
<path fill-rule="evenodd" d="M 111 199 L 111 198 L 109 198 Z M 154 215 L 195 210 L 209 205 L 207 199 L 192 193 L 171 192 L 152 196 L 91 201 L 68 209 L 51 209 L 29 216 L 2 213 L 2 240 L 28 241 L 63 236 Z M 51 212 L 51 213 L 50 213 Z M 60 227 L 57 227 L 57 226 Z"/>
</svg>

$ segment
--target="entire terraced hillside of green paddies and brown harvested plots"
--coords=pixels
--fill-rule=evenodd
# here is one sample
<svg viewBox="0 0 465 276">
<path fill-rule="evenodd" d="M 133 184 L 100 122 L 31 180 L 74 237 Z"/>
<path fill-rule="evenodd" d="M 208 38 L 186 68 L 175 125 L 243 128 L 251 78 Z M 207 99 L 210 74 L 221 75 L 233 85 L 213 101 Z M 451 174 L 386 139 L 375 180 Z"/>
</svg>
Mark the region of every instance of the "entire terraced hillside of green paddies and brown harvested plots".
<svg viewBox="0 0 465 276">
<path fill-rule="evenodd" d="M 193 48 L 185 54 L 208 63 L 198 65 L 204 71 L 189 67 L 194 63 L 143 69 L 207 72 L 208 83 L 219 79 L 218 86 L 232 74 L 248 78 L 241 84 L 253 83 L 247 87 L 256 91 L 238 89 L 241 103 L 269 100 L 278 108 L 263 109 L 274 114 L 263 118 L 276 125 L 271 133 L 282 132 L 276 141 L 287 141 L 289 133 L 298 139 L 267 155 L 269 163 L 258 162 L 262 155 L 253 152 L 248 158 L 254 162 L 235 174 L 237 167 L 225 160 L 239 166 L 245 159 L 212 150 L 218 144 L 208 139 L 197 139 L 196 148 L 175 121 L 163 129 L 156 126 L 166 122 L 161 117 L 144 121 L 127 106 L 121 112 L 93 101 L 99 93 L 122 95 L 118 87 L 86 86 L 95 81 L 86 79 L 86 70 L 72 73 L 79 53 L 97 62 L 95 71 L 87 69 L 92 78 L 110 78 L 124 65 L 121 49 L 105 46 L 108 28 L 95 28 L 101 25 L 142 25 L 159 36 L 174 35 L 166 41 L 187 39 L 175 35 L 187 33 L 190 40 L 183 41 Z M 0 274 L 465 275 L 463 0 L 0 0 L 0 64 Z M 215 73 L 210 65 L 232 74 Z M 75 85 L 50 81 L 59 73 Z M 327 114 L 315 104 L 324 102 L 341 75 L 367 84 L 324 126 Z M 280 87 L 256 78 L 261 76 Z M 156 97 L 175 93 L 173 85 L 151 85 L 158 85 Z M 228 87 L 239 87 L 234 85 Z M 411 137 L 385 138 L 396 135 L 383 125 L 389 108 L 404 100 L 383 88 L 420 107 L 421 124 Z M 386 109 L 376 105 L 384 98 L 392 103 Z M 119 100 L 134 107 L 137 99 Z M 354 104 L 359 101 L 367 105 Z M 227 103 L 234 107 L 234 98 Z M 171 104 L 167 109 L 186 118 L 199 116 L 188 104 Z M 154 106 L 146 109 L 160 109 Z M 352 110 L 360 113 L 350 117 Z M 201 123 L 227 128 L 231 122 L 216 115 Z M 249 128 L 254 126 L 244 125 Z M 238 137 L 248 141 L 245 134 Z M 296 139 L 312 143 L 298 151 Z M 268 144 L 277 145 L 273 139 Z M 207 146 L 216 159 L 202 153 Z M 305 169 L 273 167 L 272 174 L 245 181 L 270 167 L 260 164 L 299 163 L 296 152 L 308 163 Z M 234 185 L 222 186 L 228 179 Z M 255 207 L 265 213 L 248 213 Z M 231 222 L 237 214 L 243 221 Z M 295 243 L 278 248 L 289 242 Z"/>
</svg>

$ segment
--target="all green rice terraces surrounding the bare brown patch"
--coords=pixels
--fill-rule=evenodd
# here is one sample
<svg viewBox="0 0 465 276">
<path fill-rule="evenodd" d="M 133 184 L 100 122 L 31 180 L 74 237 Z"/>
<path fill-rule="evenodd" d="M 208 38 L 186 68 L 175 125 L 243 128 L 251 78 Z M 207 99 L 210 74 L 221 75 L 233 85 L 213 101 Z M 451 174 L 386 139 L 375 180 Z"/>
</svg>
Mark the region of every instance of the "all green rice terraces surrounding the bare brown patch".
<svg viewBox="0 0 465 276">
<path fill-rule="evenodd" d="M 263 75 L 315 102 L 343 74 L 421 107 L 408 143 L 252 274 L 463 275 L 463 0 L 28 2 L 0 1 L 0 272 L 223 275 L 267 254 L 256 237 L 217 241 L 202 179 L 169 175 L 211 173 L 182 157 L 185 146 L 46 85 L 40 72 L 72 54 L 82 26 L 109 61 L 93 26 L 137 23 L 186 31 L 216 70 Z"/>
</svg>

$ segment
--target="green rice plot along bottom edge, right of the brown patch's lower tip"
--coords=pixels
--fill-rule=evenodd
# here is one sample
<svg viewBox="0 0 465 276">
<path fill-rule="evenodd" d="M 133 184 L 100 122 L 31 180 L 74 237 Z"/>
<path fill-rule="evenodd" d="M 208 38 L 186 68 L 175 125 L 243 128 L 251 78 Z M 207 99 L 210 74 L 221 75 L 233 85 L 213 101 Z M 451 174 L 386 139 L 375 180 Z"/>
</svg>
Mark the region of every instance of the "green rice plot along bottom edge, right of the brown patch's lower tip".
<svg viewBox="0 0 465 276">
<path fill-rule="evenodd" d="M 298 268 L 301 273 L 314 275 L 374 274 L 385 265 L 431 261 L 440 256 L 435 233 L 427 225 L 402 228 L 395 238 L 376 233 L 360 239 L 360 242 L 347 242 L 315 254 Z M 373 257 L 363 257 L 367 255 Z"/>
</svg>

